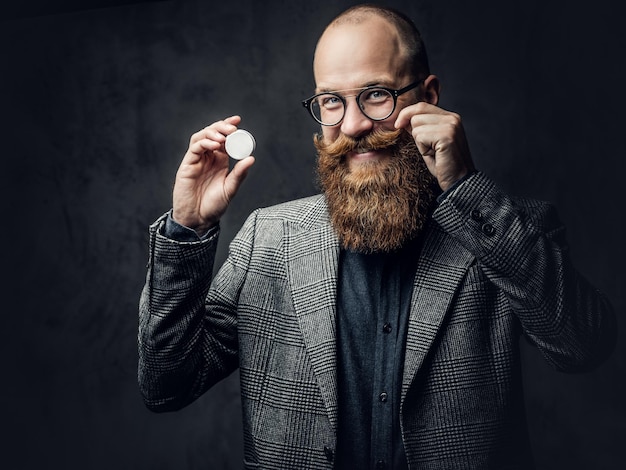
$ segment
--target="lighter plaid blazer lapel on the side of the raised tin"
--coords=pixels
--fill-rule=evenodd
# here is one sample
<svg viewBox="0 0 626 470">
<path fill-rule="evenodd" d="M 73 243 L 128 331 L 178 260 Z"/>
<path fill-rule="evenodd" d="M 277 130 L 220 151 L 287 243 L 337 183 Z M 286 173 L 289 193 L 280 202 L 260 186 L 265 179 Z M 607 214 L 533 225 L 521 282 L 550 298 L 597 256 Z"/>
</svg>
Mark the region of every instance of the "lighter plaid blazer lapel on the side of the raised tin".
<svg viewBox="0 0 626 470">
<path fill-rule="evenodd" d="M 320 201 L 319 218 L 311 217 L 317 223 L 285 223 L 285 256 L 300 330 L 330 422 L 336 431 L 339 242 L 328 221 L 326 204 L 323 199 Z"/>
</svg>

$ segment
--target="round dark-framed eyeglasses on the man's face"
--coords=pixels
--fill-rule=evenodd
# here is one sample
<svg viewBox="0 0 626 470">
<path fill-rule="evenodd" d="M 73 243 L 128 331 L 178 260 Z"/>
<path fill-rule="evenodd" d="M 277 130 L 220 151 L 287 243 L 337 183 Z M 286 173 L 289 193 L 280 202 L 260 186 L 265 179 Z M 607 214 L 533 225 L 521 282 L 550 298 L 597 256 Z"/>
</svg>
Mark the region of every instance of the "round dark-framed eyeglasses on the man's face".
<svg viewBox="0 0 626 470">
<path fill-rule="evenodd" d="M 383 121 L 396 109 L 398 96 L 416 88 L 424 80 L 393 90 L 377 85 L 360 88 L 356 95 L 340 95 L 339 91 L 324 92 L 304 100 L 302 105 L 309 110 L 313 119 L 322 126 L 336 126 L 346 115 L 346 98 L 356 97 L 361 112 L 372 121 Z"/>
</svg>

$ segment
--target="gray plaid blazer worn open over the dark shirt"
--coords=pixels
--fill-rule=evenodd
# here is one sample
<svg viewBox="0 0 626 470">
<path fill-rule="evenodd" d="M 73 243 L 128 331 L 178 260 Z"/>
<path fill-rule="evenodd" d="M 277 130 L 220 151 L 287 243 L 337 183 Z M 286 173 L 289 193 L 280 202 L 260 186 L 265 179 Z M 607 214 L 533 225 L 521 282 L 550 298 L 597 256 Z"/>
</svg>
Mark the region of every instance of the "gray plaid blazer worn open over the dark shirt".
<svg viewBox="0 0 626 470">
<path fill-rule="evenodd" d="M 324 198 L 255 211 L 214 279 L 217 235 L 175 242 L 163 223 L 140 302 L 146 405 L 179 409 L 239 368 L 244 467 L 332 468 L 339 244 Z M 519 337 L 558 370 L 587 370 L 611 349 L 612 318 L 570 266 L 550 205 L 470 177 L 435 210 L 417 265 L 401 395 L 410 468 L 531 468 Z"/>
</svg>

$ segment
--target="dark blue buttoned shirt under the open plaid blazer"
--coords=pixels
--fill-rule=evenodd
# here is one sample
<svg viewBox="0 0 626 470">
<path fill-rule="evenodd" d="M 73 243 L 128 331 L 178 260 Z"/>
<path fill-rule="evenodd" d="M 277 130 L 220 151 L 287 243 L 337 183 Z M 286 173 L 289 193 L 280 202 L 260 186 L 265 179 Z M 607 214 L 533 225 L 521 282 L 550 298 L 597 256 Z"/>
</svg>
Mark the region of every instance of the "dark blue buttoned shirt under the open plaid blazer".
<svg viewBox="0 0 626 470">
<path fill-rule="evenodd" d="M 397 253 L 343 250 L 337 297 L 337 469 L 406 469 L 404 346 L 419 240 Z"/>
</svg>

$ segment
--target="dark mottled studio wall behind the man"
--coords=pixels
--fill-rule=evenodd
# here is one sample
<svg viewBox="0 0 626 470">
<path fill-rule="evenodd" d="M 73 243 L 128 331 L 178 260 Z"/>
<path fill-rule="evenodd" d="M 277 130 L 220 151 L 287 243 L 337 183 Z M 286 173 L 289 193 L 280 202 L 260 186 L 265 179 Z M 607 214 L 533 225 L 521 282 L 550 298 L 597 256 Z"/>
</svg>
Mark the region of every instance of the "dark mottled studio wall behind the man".
<svg viewBox="0 0 626 470">
<path fill-rule="evenodd" d="M 178 413 L 140 400 L 147 226 L 170 207 L 189 136 L 235 113 L 257 138 L 257 163 L 223 220 L 220 260 L 252 209 L 315 191 L 316 126 L 300 100 L 322 28 L 354 2 L 122 3 L 9 10 L 0 24 L 2 468 L 241 468 L 236 375 Z M 623 328 L 618 10 L 608 0 L 386 3 L 420 25 L 441 106 L 463 116 L 477 166 L 557 205 L 575 263 Z M 622 337 L 584 375 L 524 351 L 540 469 L 617 468 Z"/>
</svg>

